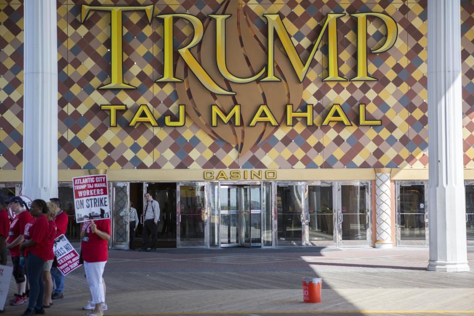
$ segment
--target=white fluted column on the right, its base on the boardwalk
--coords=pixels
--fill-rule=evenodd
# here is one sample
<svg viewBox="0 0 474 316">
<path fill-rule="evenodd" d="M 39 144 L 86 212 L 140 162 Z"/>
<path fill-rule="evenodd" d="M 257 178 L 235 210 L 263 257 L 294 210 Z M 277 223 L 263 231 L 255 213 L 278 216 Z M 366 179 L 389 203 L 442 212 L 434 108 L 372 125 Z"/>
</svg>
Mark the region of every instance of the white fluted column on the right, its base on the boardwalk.
<svg viewBox="0 0 474 316">
<path fill-rule="evenodd" d="M 469 271 L 463 174 L 461 8 L 428 1 L 430 271 Z"/>
</svg>

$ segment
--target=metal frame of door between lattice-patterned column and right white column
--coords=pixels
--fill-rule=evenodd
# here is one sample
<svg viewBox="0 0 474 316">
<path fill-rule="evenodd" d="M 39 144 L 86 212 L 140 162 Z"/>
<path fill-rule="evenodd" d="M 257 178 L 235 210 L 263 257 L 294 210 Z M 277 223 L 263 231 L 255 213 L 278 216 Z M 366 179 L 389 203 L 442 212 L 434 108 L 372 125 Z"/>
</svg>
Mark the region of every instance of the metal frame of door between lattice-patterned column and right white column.
<svg viewBox="0 0 474 316">
<path fill-rule="evenodd" d="M 401 239 L 401 205 L 400 205 L 400 186 L 423 185 L 425 190 L 425 240 L 402 240 Z M 397 247 L 428 247 L 430 245 L 430 227 L 428 222 L 428 181 L 411 181 L 400 180 L 395 181 L 395 236 Z"/>
</svg>

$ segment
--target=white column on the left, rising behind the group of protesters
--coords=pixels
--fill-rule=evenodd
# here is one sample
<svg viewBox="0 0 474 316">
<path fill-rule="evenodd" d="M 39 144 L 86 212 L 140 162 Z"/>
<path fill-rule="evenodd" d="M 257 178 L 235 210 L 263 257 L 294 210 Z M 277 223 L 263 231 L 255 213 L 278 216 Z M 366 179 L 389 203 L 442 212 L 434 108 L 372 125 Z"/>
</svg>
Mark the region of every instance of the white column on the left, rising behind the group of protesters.
<svg viewBox="0 0 474 316">
<path fill-rule="evenodd" d="M 23 195 L 58 197 L 56 0 L 24 1 Z"/>
</svg>

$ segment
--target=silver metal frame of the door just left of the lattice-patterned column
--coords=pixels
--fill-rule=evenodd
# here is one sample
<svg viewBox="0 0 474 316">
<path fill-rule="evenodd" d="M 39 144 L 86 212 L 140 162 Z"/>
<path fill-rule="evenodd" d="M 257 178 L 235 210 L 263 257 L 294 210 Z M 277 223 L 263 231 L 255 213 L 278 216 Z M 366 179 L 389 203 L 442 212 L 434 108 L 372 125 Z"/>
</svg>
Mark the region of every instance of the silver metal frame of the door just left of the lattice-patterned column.
<svg viewBox="0 0 474 316">
<path fill-rule="evenodd" d="M 336 224 L 337 226 L 337 247 L 371 247 L 372 245 L 372 187 L 371 181 L 336 181 Z M 343 240 L 342 239 L 342 222 L 344 214 L 342 213 L 342 186 L 365 186 L 365 207 L 367 213 L 365 215 L 366 239 L 362 240 Z"/>
</svg>

